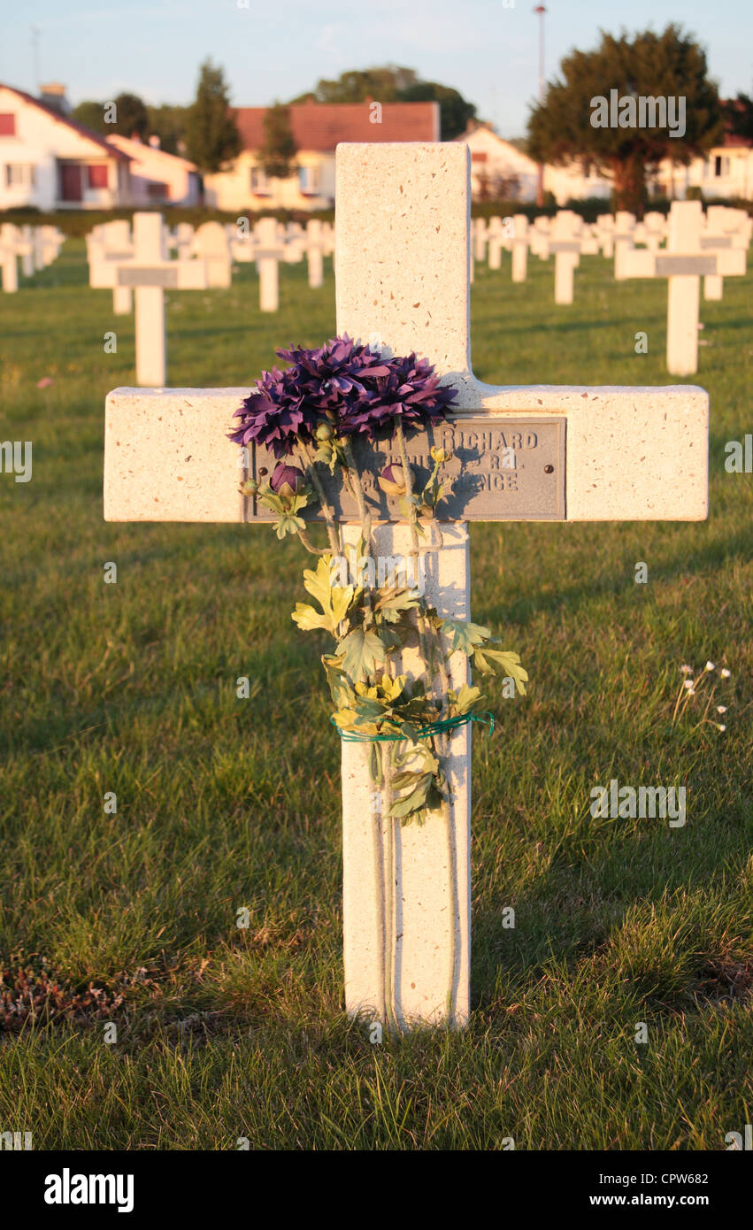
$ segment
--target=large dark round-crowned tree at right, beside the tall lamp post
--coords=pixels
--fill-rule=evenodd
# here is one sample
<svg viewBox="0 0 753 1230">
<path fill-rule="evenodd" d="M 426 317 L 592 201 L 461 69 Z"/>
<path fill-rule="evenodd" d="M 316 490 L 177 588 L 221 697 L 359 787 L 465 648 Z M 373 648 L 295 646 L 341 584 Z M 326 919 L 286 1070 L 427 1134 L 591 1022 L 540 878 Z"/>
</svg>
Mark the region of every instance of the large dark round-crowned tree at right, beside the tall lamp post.
<svg viewBox="0 0 753 1230">
<path fill-rule="evenodd" d="M 571 52 L 560 71 L 562 79 L 555 79 L 532 108 L 530 154 L 560 165 L 589 161 L 612 176 L 619 209 L 642 212 L 647 166 L 663 157 L 687 166 L 721 134 L 721 107 L 706 75 L 705 52 L 679 26 L 620 38 L 602 32 L 596 50 Z M 659 127 L 662 107 L 669 117 L 672 100 L 677 123 L 672 127 L 667 118 Z"/>
</svg>

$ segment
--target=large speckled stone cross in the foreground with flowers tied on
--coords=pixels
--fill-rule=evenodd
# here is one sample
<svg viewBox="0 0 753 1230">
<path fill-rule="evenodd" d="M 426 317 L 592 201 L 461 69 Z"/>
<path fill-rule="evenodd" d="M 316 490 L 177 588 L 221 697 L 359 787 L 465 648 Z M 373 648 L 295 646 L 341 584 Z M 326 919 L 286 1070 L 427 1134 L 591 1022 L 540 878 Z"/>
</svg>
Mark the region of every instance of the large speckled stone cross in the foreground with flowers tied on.
<svg viewBox="0 0 753 1230">
<path fill-rule="evenodd" d="M 474 375 L 468 146 L 340 145 L 336 202 L 337 331 L 379 346 L 383 354 L 418 351 L 458 392 L 452 419 L 434 429 L 453 448 L 464 480 L 438 525 L 442 546 L 427 562 L 426 597 L 440 615 L 470 617 L 468 518 L 705 518 L 709 399 L 703 389 L 498 387 Z M 237 493 L 239 449 L 226 438 L 247 391 L 111 392 L 106 519 L 261 519 L 255 502 Z M 417 465 L 426 455 L 426 435 L 408 442 Z M 513 469 L 502 464 L 504 449 L 512 450 Z M 383 453 L 390 450 L 385 445 Z M 268 465 L 263 450 L 247 460 L 253 476 L 268 472 Z M 374 555 L 406 556 L 411 536 L 400 514 L 384 504 L 375 513 Z M 353 514 L 343 510 L 340 519 L 343 538 L 354 542 L 361 526 L 352 523 Z M 311 653 L 313 669 L 314 659 Z M 535 662 L 527 665 L 535 678 Z M 426 674 L 417 649 L 405 651 L 402 669 Z M 453 654 L 452 685 L 468 675 L 468 659 Z M 534 721 L 523 707 L 516 718 Z M 333 736 L 322 728 L 322 740 L 327 737 Z M 390 1002 L 401 1026 L 468 1021 L 470 744 L 470 727 L 456 728 L 447 765 L 449 827 L 431 813 L 422 825 L 401 828 L 385 814 L 369 777 L 368 744 L 342 743 L 345 999 L 351 1015 L 384 1016 L 386 951 Z M 390 862 L 392 875 L 383 875 L 378 868 Z"/>
</svg>

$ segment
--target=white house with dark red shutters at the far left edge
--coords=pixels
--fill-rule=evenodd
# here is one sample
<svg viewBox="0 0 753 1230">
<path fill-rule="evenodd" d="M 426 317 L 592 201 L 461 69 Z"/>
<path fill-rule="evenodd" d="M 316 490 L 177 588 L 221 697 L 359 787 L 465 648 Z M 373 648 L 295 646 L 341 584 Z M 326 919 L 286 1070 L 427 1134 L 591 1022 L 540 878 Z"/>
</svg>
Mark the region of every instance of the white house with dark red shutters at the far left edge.
<svg viewBox="0 0 753 1230">
<path fill-rule="evenodd" d="M 66 114 L 63 86 L 43 97 L 0 84 L 0 209 L 127 203 L 128 155 Z"/>
</svg>

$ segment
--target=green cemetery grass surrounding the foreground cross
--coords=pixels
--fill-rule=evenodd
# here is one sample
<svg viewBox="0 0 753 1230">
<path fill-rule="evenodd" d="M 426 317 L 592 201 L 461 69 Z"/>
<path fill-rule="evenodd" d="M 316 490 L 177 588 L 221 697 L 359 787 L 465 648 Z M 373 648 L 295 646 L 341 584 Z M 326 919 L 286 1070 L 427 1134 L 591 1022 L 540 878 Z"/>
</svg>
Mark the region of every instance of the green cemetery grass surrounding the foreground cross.
<svg viewBox="0 0 753 1230">
<path fill-rule="evenodd" d="M 0 475 L 4 1130 L 82 1150 L 720 1150 L 743 1132 L 753 476 L 723 460 L 753 429 L 752 289 L 701 300 L 707 523 L 472 526 L 472 617 L 530 674 L 524 699 L 488 688 L 497 731 L 475 736 L 472 1018 L 381 1046 L 342 1007 L 327 641 L 289 614 L 308 557 L 263 526 L 105 524 L 103 403 L 133 383 L 133 316 L 89 289 L 80 240 L 0 295 L 1 434 L 33 442 L 33 481 Z M 257 304 L 250 266 L 171 292 L 170 384 L 250 386 L 276 344 L 332 336 L 331 262 L 324 290 L 283 266 L 278 315 Z M 571 308 L 551 261 L 522 285 L 509 257 L 476 267 L 474 369 L 675 383 L 666 304 L 664 282 L 615 283 L 600 257 Z M 680 664 L 706 659 L 710 711 L 699 692 L 673 722 Z M 592 818 L 613 777 L 684 785 L 684 828 Z"/>
</svg>

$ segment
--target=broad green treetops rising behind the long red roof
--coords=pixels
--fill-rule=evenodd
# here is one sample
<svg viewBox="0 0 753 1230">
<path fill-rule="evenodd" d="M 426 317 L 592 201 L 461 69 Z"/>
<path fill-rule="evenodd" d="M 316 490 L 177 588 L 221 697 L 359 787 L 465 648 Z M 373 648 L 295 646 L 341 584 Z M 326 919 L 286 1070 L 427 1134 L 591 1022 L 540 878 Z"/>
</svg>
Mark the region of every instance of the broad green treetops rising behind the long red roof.
<svg viewBox="0 0 753 1230">
<path fill-rule="evenodd" d="M 397 64 L 351 69 L 336 81 L 322 79 L 314 90 L 293 102 L 365 102 L 367 98 L 376 102 L 438 102 L 443 141 L 450 141 L 464 133 L 469 119 L 476 114 L 474 103 L 466 102 L 458 90 L 438 81 L 422 81 L 415 69 Z"/>
</svg>

